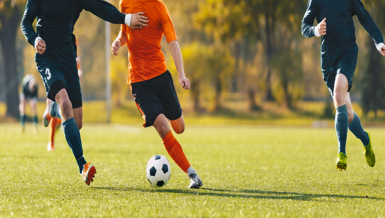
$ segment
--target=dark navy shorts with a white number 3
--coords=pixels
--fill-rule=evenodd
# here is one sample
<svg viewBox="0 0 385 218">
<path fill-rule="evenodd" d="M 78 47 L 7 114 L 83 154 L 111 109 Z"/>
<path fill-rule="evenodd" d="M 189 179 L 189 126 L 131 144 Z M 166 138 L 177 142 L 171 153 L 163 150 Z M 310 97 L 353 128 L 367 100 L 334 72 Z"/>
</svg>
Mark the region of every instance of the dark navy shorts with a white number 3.
<svg viewBox="0 0 385 218">
<path fill-rule="evenodd" d="M 69 63 L 57 63 L 54 60 L 47 59 L 36 62 L 36 68 L 42 76 L 47 98 L 55 101 L 55 98 L 50 93 L 50 87 L 56 81 L 60 80 L 64 83 L 65 90 L 67 91 L 68 97 L 72 103 L 72 108 L 82 106 L 82 93 L 80 92 L 80 82 L 76 61 Z"/>
</svg>

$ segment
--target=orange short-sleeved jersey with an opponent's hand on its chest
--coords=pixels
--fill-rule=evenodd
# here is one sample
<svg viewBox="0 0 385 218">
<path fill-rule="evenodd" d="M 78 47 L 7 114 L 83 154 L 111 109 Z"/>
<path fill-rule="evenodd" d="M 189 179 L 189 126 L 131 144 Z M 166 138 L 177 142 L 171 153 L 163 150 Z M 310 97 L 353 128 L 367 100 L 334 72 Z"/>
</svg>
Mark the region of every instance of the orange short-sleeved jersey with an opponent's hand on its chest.
<svg viewBox="0 0 385 218">
<path fill-rule="evenodd" d="M 148 26 L 133 30 L 122 25 L 121 30 L 126 34 L 128 48 L 128 81 L 140 82 L 166 72 L 166 60 L 161 51 L 163 34 L 167 43 L 177 40 L 174 25 L 166 5 L 161 0 L 121 0 L 122 13 L 145 12 Z"/>
</svg>

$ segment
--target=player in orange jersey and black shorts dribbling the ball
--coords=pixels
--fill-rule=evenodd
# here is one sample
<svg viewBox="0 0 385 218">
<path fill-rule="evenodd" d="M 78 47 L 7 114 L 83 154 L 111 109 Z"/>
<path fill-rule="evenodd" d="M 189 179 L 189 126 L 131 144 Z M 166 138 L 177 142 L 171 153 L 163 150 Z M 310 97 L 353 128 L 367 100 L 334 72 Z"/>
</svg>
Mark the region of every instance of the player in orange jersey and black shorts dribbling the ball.
<svg viewBox="0 0 385 218">
<path fill-rule="evenodd" d="M 202 180 L 190 165 L 169 126 L 176 134 L 184 131 L 182 109 L 161 51 L 163 34 L 174 58 L 179 84 L 184 90 L 189 89 L 190 81 L 184 75 L 181 50 L 166 5 L 161 0 L 121 0 L 120 10 L 122 13 L 144 11 L 149 16 L 149 25 L 142 30 L 131 30 L 127 25 L 122 25 L 119 36 L 112 44 L 114 55 L 118 55 L 117 50 L 127 44 L 128 83 L 136 106 L 145 120 L 143 126 L 155 127 L 171 158 L 189 177 L 188 188 L 200 188 Z"/>
</svg>

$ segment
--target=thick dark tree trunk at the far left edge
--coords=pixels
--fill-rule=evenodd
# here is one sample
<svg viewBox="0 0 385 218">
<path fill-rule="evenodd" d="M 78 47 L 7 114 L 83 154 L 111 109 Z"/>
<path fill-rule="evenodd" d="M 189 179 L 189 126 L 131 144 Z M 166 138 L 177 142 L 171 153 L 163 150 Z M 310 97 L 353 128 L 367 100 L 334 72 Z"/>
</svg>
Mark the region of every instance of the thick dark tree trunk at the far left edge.
<svg viewBox="0 0 385 218">
<path fill-rule="evenodd" d="M 15 84 L 13 87 L 8 87 L 8 93 L 6 93 L 5 102 L 7 103 L 7 116 L 18 117 L 19 116 L 19 94 L 18 84 L 13 83 L 13 80 L 18 80 L 16 69 L 16 39 L 17 28 L 20 28 L 20 9 L 16 6 L 12 8 L 14 10 L 12 15 L 7 17 L 0 13 L 0 20 L 2 27 L 0 30 L 0 41 L 2 45 L 2 52 L 4 56 L 5 65 L 5 81 L 6 84 Z"/>
</svg>

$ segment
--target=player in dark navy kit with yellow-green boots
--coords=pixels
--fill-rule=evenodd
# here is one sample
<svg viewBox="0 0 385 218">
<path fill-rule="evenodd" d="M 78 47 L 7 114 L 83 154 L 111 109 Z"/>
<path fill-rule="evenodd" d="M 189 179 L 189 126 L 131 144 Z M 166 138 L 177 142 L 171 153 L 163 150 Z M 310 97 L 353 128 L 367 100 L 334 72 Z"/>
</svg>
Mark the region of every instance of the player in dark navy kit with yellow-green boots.
<svg viewBox="0 0 385 218">
<path fill-rule="evenodd" d="M 346 170 L 347 167 L 345 147 L 348 129 L 362 141 L 363 154 L 368 165 L 373 167 L 376 163 L 370 134 L 363 129 L 360 117 L 353 111 L 349 96 L 358 57 L 354 15 L 357 15 L 363 28 L 372 37 L 378 51 L 385 56 L 381 31 L 360 0 L 309 0 L 301 28 L 305 37 L 321 37 L 323 79 L 336 108 L 335 128 L 338 141 L 336 168 L 340 170 Z M 314 19 L 318 22 L 317 26 L 313 26 Z"/>
</svg>

